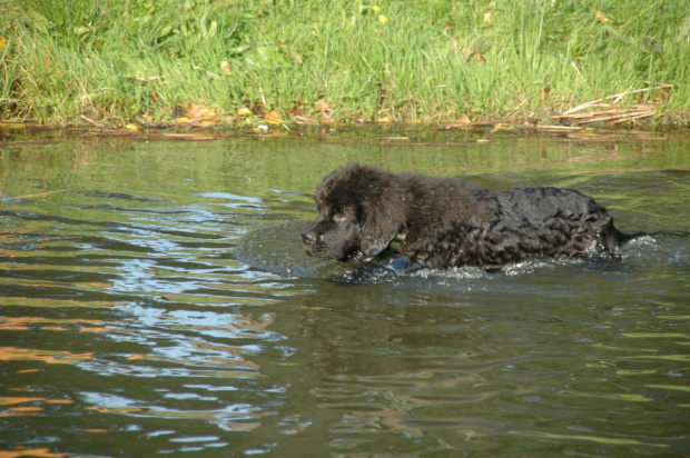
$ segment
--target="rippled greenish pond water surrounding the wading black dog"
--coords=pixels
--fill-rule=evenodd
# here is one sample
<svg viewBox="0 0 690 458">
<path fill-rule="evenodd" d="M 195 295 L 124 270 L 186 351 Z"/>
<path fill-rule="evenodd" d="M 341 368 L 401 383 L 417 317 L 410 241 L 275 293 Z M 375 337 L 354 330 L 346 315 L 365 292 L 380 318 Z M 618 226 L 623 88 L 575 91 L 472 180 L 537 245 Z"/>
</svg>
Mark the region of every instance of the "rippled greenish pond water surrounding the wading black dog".
<svg viewBox="0 0 690 458">
<path fill-rule="evenodd" d="M 0 456 L 690 454 L 688 139 L 477 135 L 7 138 Z M 353 160 L 578 188 L 652 236 L 337 285 L 299 232 Z"/>
</svg>

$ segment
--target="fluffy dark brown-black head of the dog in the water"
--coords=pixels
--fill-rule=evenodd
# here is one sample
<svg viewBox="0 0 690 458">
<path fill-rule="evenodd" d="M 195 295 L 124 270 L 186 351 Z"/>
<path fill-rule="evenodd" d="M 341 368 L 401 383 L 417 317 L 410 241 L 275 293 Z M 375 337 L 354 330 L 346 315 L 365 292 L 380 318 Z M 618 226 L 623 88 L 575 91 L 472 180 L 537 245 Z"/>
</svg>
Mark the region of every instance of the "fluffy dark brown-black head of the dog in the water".
<svg viewBox="0 0 690 458">
<path fill-rule="evenodd" d="M 346 166 L 316 189 L 318 218 L 302 233 L 304 250 L 322 259 L 376 256 L 403 226 L 400 178 L 383 170 Z"/>
</svg>

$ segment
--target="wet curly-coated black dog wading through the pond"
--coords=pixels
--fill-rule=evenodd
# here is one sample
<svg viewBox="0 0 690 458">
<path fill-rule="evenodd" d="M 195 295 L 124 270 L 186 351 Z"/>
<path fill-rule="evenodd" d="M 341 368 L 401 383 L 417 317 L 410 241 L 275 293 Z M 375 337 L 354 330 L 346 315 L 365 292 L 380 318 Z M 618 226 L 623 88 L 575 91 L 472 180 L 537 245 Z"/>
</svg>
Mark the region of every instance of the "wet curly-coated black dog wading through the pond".
<svg viewBox="0 0 690 458">
<path fill-rule="evenodd" d="M 492 192 L 453 179 L 349 165 L 314 196 L 319 216 L 302 235 L 307 255 L 405 257 L 418 267 L 500 269 L 532 257 L 615 257 L 630 236 L 572 189 Z"/>
</svg>

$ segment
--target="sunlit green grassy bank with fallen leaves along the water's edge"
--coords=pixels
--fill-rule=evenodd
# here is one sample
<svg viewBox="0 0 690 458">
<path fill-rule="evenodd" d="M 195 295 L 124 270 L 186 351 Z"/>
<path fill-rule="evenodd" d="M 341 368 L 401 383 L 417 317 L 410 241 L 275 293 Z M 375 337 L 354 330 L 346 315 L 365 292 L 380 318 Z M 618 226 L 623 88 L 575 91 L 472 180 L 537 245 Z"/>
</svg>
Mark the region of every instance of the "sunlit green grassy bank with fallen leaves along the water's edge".
<svg viewBox="0 0 690 458">
<path fill-rule="evenodd" d="M 0 0 L 0 119 L 235 125 L 241 107 L 276 123 L 556 122 L 627 107 L 687 122 L 690 6 Z"/>
</svg>

